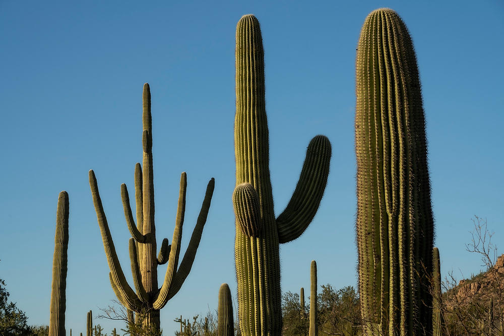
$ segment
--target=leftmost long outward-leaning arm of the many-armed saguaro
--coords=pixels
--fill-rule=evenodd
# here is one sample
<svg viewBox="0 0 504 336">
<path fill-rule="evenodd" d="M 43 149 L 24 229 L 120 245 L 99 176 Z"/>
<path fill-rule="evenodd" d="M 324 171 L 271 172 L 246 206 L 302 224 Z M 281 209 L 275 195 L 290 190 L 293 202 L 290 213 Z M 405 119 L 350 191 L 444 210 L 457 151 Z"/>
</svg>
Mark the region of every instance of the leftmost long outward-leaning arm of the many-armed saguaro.
<svg viewBox="0 0 504 336">
<path fill-rule="evenodd" d="M 117 258 L 117 254 L 115 252 L 114 242 L 112 241 L 112 236 L 110 235 L 110 230 L 108 229 L 107 217 L 105 216 L 105 211 L 103 211 L 103 205 L 101 204 L 96 177 L 92 170 L 89 171 L 89 185 L 91 187 L 91 194 L 93 195 L 93 203 L 96 210 L 98 225 L 100 226 L 103 248 L 105 249 L 108 267 L 112 273 L 113 281 L 116 284 L 121 297 L 129 304 L 135 305 L 139 299 L 130 285 L 128 285 L 128 282 L 124 277 L 124 273 L 122 272 L 119 259 Z M 117 298 L 119 299 L 119 297 Z"/>
</svg>

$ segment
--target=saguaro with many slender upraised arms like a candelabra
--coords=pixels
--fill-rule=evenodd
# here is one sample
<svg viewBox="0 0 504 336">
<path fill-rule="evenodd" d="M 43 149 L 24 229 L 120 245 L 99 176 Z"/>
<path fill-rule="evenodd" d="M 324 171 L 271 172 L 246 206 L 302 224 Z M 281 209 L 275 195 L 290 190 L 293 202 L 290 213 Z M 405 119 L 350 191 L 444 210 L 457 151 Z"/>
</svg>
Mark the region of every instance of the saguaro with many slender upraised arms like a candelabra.
<svg viewBox="0 0 504 336">
<path fill-rule="evenodd" d="M 121 185 L 121 198 L 124 216 L 128 229 L 133 238 L 130 238 L 130 259 L 133 273 L 135 291 L 130 287 L 120 266 L 110 230 L 108 228 L 105 211 L 98 193 L 98 185 L 94 172 L 89 171 L 89 184 L 93 195 L 93 202 L 98 217 L 103 247 L 110 267 L 110 284 L 117 299 L 127 309 L 146 315 L 144 324 L 159 330 L 159 310 L 163 308 L 182 286 L 185 278 L 191 271 L 196 251 L 200 244 L 203 227 L 207 220 L 208 209 L 214 190 L 214 179 L 207 186 L 205 199 L 201 207 L 196 227 L 191 236 L 191 241 L 180 265 L 180 241 L 182 238 L 182 225 L 185 212 L 185 190 L 187 186 L 185 172 L 180 177 L 180 192 L 178 198 L 175 230 L 173 231 L 172 244 L 164 239 L 156 257 L 156 227 L 154 225 L 154 175 L 152 165 L 152 117 L 151 93 L 149 84 L 144 84 L 143 91 L 143 172 L 140 163 L 135 166 L 135 200 L 137 205 L 137 224 L 133 218 L 130 207 L 130 198 L 125 184 Z M 158 288 L 157 266 L 168 262 L 163 285 Z M 178 267 L 178 268 L 177 268 Z"/>
</svg>

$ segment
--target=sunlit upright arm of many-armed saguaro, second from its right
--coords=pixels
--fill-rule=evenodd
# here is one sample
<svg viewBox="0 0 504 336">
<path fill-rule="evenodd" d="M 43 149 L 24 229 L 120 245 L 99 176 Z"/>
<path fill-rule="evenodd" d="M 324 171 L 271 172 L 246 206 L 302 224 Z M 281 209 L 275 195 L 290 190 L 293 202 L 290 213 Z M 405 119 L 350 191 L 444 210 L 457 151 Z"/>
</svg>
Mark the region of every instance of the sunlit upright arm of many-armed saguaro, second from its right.
<svg viewBox="0 0 504 336">
<path fill-rule="evenodd" d="M 171 240 L 171 251 L 168 258 L 168 267 L 166 268 L 166 274 L 164 276 L 164 282 L 157 298 L 154 301 L 153 308 L 161 309 L 168 302 L 168 292 L 171 287 L 171 283 L 175 276 L 176 269 L 178 267 L 178 256 L 180 254 L 180 241 L 182 240 L 182 225 L 184 222 L 185 214 L 185 191 L 187 189 L 187 176 L 185 172 L 180 176 L 180 192 L 178 195 L 178 208 L 177 217 L 175 219 L 175 230 L 173 230 L 173 239 Z"/>
</svg>

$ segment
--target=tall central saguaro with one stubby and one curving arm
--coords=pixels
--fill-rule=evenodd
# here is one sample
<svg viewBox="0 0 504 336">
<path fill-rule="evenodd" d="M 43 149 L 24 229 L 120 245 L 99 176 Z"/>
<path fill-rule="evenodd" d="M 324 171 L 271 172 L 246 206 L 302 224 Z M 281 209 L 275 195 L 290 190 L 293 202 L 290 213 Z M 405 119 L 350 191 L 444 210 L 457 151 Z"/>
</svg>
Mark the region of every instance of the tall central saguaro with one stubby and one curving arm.
<svg viewBox="0 0 504 336">
<path fill-rule="evenodd" d="M 314 137 L 292 198 L 275 219 L 269 171 L 264 52 L 259 22 L 243 16 L 236 27 L 235 262 L 240 329 L 246 335 L 282 330 L 279 243 L 298 238 L 319 207 L 329 174 L 331 145 Z"/>
</svg>

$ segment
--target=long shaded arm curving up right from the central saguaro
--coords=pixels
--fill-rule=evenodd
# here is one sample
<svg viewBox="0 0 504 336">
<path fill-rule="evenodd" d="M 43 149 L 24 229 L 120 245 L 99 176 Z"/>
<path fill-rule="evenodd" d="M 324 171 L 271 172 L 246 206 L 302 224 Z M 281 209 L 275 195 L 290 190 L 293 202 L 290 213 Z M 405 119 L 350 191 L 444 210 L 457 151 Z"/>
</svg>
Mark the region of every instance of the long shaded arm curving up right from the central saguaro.
<svg viewBox="0 0 504 336">
<path fill-rule="evenodd" d="M 311 139 L 301 176 L 285 210 L 277 218 L 279 243 L 290 242 L 306 230 L 326 189 L 331 143 L 323 135 Z"/>
</svg>

